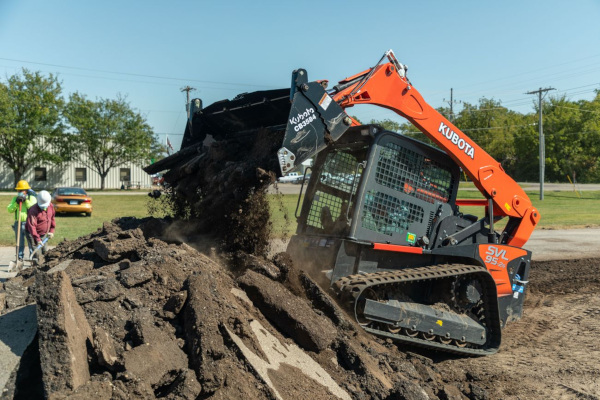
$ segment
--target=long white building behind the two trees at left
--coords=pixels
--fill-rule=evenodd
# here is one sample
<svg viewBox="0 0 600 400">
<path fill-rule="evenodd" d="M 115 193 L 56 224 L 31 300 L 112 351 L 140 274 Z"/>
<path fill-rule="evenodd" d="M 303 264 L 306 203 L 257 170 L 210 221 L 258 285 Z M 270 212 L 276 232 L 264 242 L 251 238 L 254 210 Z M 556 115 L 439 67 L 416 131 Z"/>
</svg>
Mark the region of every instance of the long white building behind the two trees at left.
<svg viewBox="0 0 600 400">
<path fill-rule="evenodd" d="M 57 165 L 34 165 L 21 179 L 25 179 L 34 190 L 52 190 L 60 186 L 100 189 L 100 175 L 79 161 Z M 12 170 L 0 163 L 0 189 L 14 189 Z M 140 165 L 127 163 L 111 168 L 104 180 L 105 189 L 148 189 L 152 177 Z"/>
</svg>

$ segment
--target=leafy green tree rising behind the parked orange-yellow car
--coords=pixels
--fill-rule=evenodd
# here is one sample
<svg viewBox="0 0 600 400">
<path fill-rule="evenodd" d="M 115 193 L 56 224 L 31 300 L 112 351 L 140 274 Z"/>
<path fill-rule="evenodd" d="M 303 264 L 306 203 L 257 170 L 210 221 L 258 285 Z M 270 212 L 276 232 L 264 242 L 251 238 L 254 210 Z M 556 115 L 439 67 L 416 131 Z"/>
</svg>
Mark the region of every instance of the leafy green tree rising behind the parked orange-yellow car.
<svg viewBox="0 0 600 400">
<path fill-rule="evenodd" d="M 74 93 L 65 108 L 79 161 L 100 175 L 100 189 L 112 168 L 130 161 L 149 163 L 156 138 L 145 118 L 125 98 L 91 101 Z"/>
</svg>

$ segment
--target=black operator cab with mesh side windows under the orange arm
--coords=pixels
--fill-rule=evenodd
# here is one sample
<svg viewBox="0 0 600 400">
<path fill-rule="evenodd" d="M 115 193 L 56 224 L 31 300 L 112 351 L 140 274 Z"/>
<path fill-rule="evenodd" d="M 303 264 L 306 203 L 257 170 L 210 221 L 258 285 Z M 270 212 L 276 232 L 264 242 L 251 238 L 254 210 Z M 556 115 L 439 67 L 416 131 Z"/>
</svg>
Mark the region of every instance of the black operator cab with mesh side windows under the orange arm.
<svg viewBox="0 0 600 400">
<path fill-rule="evenodd" d="M 459 179 L 460 169 L 438 149 L 376 125 L 350 128 L 318 154 L 297 234 L 429 242 L 436 222 L 457 211 Z"/>
</svg>

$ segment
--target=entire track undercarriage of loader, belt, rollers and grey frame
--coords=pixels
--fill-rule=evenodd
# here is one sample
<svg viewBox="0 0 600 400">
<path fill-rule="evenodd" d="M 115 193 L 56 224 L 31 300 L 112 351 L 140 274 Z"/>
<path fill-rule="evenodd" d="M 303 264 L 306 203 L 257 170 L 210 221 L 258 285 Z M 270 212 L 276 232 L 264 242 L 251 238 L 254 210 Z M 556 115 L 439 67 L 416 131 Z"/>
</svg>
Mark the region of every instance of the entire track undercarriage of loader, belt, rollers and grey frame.
<svg viewBox="0 0 600 400">
<path fill-rule="evenodd" d="M 333 288 L 375 335 L 474 356 L 500 346 L 495 284 L 484 267 L 444 264 L 350 275 Z"/>
</svg>

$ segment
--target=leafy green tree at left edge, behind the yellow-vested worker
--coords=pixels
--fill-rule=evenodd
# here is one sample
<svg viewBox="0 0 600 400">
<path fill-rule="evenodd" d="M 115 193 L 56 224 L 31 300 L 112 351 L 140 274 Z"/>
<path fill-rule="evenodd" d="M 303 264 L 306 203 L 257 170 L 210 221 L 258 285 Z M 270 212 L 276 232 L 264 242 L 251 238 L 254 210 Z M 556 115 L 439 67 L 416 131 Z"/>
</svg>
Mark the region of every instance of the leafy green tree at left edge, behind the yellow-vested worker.
<svg viewBox="0 0 600 400">
<path fill-rule="evenodd" d="M 62 88 L 52 74 L 23 69 L 0 83 L 0 159 L 13 171 L 15 184 L 34 164 L 68 160 L 63 107 Z"/>
</svg>

